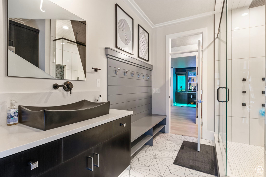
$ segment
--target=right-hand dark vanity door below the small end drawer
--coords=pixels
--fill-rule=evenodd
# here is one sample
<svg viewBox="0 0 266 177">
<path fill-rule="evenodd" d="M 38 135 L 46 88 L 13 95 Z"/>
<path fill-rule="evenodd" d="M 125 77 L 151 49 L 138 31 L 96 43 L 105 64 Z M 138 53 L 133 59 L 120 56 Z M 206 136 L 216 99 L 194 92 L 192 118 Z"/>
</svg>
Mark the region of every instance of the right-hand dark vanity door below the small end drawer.
<svg viewBox="0 0 266 177">
<path fill-rule="evenodd" d="M 93 158 L 93 177 L 119 176 L 130 165 L 130 129 L 93 147 Z"/>
</svg>

